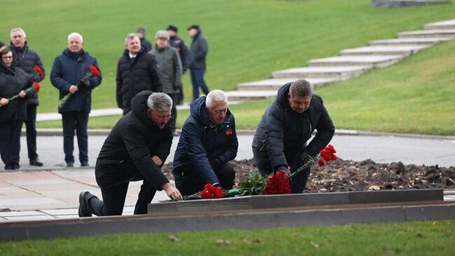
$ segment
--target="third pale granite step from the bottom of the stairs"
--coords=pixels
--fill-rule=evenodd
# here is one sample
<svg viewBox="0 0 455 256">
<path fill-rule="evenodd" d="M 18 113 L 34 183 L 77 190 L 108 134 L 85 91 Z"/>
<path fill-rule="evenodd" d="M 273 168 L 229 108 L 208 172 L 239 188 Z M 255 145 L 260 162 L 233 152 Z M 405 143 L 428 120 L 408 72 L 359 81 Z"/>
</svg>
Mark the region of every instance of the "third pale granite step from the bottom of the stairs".
<svg viewBox="0 0 455 256">
<path fill-rule="evenodd" d="M 285 78 L 332 78 L 337 80 L 347 80 L 360 76 L 371 69 L 370 66 L 351 66 L 351 67 L 296 67 L 283 69 L 273 72 L 274 79 Z"/>
</svg>

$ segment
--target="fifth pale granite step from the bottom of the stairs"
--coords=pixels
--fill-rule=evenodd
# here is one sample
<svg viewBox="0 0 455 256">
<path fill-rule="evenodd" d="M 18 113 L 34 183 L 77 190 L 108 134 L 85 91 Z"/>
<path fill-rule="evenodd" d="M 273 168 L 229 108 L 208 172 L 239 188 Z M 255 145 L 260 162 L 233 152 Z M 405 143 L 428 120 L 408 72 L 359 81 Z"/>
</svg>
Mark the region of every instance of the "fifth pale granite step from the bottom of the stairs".
<svg viewBox="0 0 455 256">
<path fill-rule="evenodd" d="M 342 56 L 353 55 L 402 55 L 403 57 L 417 53 L 428 46 L 364 46 L 341 50 Z"/>
</svg>

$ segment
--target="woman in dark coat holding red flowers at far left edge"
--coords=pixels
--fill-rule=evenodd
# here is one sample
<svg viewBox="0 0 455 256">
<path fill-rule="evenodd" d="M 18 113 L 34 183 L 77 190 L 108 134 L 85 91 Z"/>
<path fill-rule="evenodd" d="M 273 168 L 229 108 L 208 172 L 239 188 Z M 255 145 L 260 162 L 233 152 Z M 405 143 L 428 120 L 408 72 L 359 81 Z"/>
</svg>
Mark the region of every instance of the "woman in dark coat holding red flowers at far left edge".
<svg viewBox="0 0 455 256">
<path fill-rule="evenodd" d="M 27 119 L 24 90 L 31 86 L 31 77 L 15 67 L 15 56 L 9 46 L 2 46 L 0 54 L 0 154 L 5 170 L 10 170 L 20 167 L 20 132 Z M 19 95 L 18 99 L 9 101 L 14 95 Z"/>
</svg>

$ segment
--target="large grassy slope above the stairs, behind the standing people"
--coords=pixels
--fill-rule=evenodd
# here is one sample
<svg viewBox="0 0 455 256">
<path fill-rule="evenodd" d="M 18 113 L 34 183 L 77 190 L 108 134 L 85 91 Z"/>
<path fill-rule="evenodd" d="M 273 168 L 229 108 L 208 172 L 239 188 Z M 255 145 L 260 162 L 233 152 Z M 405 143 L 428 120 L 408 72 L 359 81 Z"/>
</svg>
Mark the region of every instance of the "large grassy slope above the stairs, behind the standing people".
<svg viewBox="0 0 455 256">
<path fill-rule="evenodd" d="M 453 4 L 426 8 L 372 8 L 365 0 L 325 1 L 12 1 L 2 13 L 0 39 L 13 27 L 27 31 L 31 48 L 50 72 L 66 36 L 84 35 L 85 48 L 102 67 L 104 81 L 94 92 L 93 107 L 115 107 L 116 62 L 125 34 L 143 25 L 148 38 L 174 23 L 189 43 L 185 27 L 200 23 L 209 41 L 207 82 L 211 89 L 234 89 L 241 81 L 269 77 L 276 69 L 298 67 L 307 60 L 336 55 L 344 48 L 396 32 L 421 29 L 427 22 L 453 18 Z M 8 10 L 8 11 L 6 11 Z M 17 13 L 22 13 L 20 18 Z M 186 96 L 190 83 L 185 77 Z M 38 112 L 55 112 L 57 90 L 43 82 Z"/>
</svg>

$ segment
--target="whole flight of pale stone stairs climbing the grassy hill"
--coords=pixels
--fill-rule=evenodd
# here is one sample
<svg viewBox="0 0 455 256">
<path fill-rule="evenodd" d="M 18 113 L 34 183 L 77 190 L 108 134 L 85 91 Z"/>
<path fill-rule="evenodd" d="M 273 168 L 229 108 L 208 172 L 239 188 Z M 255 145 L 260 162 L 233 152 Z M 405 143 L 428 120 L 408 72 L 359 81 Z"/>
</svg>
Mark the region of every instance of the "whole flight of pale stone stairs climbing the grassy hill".
<svg viewBox="0 0 455 256">
<path fill-rule="evenodd" d="M 388 67 L 436 43 L 455 39 L 455 20 L 429 23 L 424 30 L 400 32 L 396 39 L 370 41 L 369 46 L 341 50 L 339 56 L 309 60 L 307 67 L 272 72 L 272 79 L 239 83 L 226 92 L 230 101 L 263 100 L 276 97 L 285 83 L 307 79 L 314 88 L 353 79 L 374 68 Z"/>
</svg>

